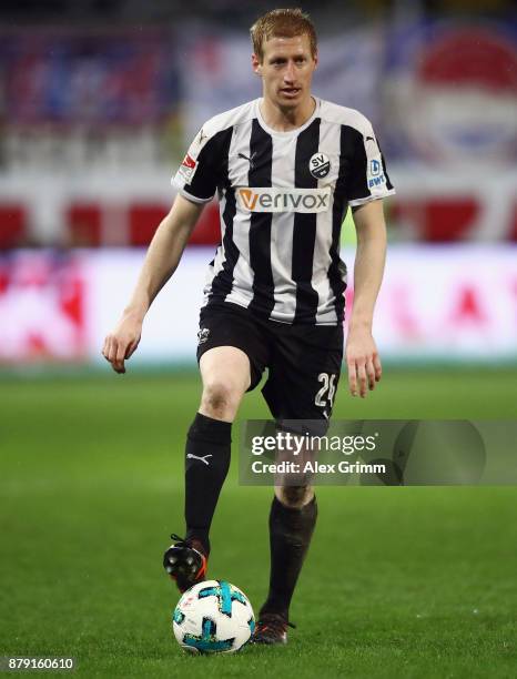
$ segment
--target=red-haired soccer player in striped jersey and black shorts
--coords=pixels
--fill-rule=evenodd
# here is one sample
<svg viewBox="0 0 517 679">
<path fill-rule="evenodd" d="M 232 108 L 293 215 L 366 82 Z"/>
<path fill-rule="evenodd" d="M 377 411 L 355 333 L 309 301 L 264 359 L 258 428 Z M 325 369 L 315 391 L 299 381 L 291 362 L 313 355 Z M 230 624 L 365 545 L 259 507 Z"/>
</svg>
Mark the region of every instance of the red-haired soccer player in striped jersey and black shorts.
<svg viewBox="0 0 517 679">
<path fill-rule="evenodd" d="M 267 12 L 251 37 L 262 98 L 212 118 L 196 134 L 173 179 L 174 204 L 103 347 L 113 368 L 125 372 L 146 311 L 216 192 L 222 242 L 209 265 L 200 314 L 203 389 L 186 436 L 186 535 L 173 535 L 176 541 L 164 555 L 164 567 L 182 591 L 206 575 L 210 526 L 245 392 L 267 368 L 262 393 L 280 428 L 284 420 L 325 424 L 331 417 L 343 358 L 346 268 L 339 232 L 347 205 L 357 231 L 346 342 L 352 395 L 364 397 L 382 372 L 372 321 L 386 249 L 382 199 L 394 191 L 375 133 L 357 111 L 311 93 L 316 33 L 301 10 Z M 316 514 L 310 485 L 275 487 L 270 591 L 256 642 L 286 641 L 290 604 Z"/>
</svg>

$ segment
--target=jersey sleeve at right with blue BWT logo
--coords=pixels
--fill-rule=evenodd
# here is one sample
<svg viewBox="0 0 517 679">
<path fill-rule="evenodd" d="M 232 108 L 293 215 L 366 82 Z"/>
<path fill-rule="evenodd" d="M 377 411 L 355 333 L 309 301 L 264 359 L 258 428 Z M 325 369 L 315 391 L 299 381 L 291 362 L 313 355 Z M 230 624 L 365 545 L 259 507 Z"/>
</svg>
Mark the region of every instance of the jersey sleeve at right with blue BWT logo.
<svg viewBox="0 0 517 679">
<path fill-rule="evenodd" d="M 369 121 L 357 134 L 347 182 L 347 200 L 352 207 L 393 195 L 395 189 L 386 170 L 386 162 Z"/>
</svg>

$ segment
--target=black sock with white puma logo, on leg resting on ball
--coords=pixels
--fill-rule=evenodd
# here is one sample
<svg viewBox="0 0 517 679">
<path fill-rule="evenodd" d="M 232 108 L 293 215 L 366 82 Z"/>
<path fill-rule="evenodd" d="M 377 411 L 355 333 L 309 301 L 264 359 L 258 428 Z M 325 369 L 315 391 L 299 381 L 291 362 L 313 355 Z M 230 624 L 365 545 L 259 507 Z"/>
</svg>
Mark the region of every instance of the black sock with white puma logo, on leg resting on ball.
<svg viewBox="0 0 517 679">
<path fill-rule="evenodd" d="M 197 413 L 186 436 L 186 539 L 200 540 L 206 555 L 210 525 L 230 467 L 231 432 L 231 423 Z"/>
</svg>

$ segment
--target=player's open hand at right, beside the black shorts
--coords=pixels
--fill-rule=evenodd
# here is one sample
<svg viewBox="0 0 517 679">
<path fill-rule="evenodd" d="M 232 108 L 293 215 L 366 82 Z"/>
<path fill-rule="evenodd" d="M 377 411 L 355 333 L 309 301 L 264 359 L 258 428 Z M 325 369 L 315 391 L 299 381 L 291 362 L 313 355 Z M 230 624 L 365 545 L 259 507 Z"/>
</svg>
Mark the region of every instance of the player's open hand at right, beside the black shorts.
<svg viewBox="0 0 517 679">
<path fill-rule="evenodd" d="M 352 396 L 366 396 L 367 388 L 372 391 L 381 379 L 383 368 L 377 353 L 375 340 L 369 330 L 352 328 L 345 348 L 348 366 L 348 388 Z"/>
</svg>

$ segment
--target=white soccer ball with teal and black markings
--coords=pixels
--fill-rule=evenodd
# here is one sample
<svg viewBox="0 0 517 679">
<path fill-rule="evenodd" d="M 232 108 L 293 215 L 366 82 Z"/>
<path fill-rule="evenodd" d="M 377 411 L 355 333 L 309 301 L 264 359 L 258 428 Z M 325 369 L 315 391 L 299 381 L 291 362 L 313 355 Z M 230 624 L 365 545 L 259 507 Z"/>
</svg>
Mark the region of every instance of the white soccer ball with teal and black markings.
<svg viewBox="0 0 517 679">
<path fill-rule="evenodd" d="M 205 580 L 187 589 L 172 616 L 178 643 L 193 653 L 233 653 L 255 629 L 243 591 L 225 580 Z"/>
</svg>

